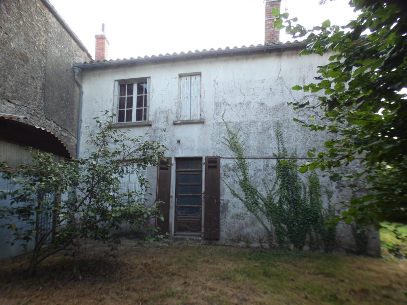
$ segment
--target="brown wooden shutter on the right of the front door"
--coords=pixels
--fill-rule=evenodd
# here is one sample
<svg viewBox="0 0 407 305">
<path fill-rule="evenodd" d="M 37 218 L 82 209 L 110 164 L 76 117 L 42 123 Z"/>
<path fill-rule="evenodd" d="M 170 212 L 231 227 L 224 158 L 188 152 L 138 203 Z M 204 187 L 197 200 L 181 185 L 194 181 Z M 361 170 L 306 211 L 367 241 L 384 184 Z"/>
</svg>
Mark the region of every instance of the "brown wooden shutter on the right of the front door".
<svg viewBox="0 0 407 305">
<path fill-rule="evenodd" d="M 220 236 L 220 158 L 205 157 L 205 211 L 203 238 Z"/>
</svg>

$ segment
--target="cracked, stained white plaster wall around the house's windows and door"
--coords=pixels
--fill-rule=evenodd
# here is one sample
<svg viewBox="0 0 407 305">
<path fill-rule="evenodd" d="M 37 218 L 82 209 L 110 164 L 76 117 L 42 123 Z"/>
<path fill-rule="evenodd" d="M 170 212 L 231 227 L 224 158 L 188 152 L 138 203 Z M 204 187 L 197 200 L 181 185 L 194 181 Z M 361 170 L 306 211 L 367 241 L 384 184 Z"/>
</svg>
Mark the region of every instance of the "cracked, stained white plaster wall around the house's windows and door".
<svg viewBox="0 0 407 305">
<path fill-rule="evenodd" d="M 271 53 L 219 56 L 190 59 L 172 63 L 143 64 L 134 67 L 84 70 L 83 119 L 92 125 L 92 116 L 104 109 L 114 110 L 114 81 L 150 77 L 150 127 L 129 127 L 133 135 L 148 133 L 152 139 L 168 147 L 166 156 L 172 157 L 221 157 L 221 177 L 232 185 L 235 177 L 231 151 L 223 143 L 226 129 L 222 115 L 234 130 L 239 130 L 245 141 L 246 156 L 273 156 L 277 150 L 275 126 L 281 126 L 285 145 L 297 157 L 306 158 L 308 148 L 323 147 L 324 134 L 310 132 L 293 121 L 294 113 L 287 102 L 315 100 L 315 96 L 293 91 L 296 84 L 315 81 L 316 67 L 327 62 L 327 57 L 298 56 L 298 50 L 274 51 Z M 201 117 L 203 124 L 173 125 L 179 107 L 179 74 L 201 73 Z M 177 143 L 180 140 L 180 143 Z M 86 137 L 82 138 L 84 152 Z M 301 160 L 299 161 L 301 162 Z M 273 174 L 275 160 L 250 159 L 253 178 L 261 179 Z M 175 196 L 175 171 L 173 167 L 170 202 L 172 223 Z M 147 171 L 148 178 L 156 181 L 156 168 Z M 323 179 L 323 184 L 329 181 Z M 333 200 L 346 194 L 337 185 Z M 151 188 L 151 202 L 155 199 L 155 184 Z M 259 245 L 265 240 L 264 229 L 247 212 L 243 204 L 235 199 L 221 181 L 221 243 Z M 205 208 L 205 207 L 203 207 Z M 348 235 L 342 234 L 345 239 Z M 347 242 L 347 243 L 346 243 Z M 343 249 L 352 248 L 352 240 L 342 243 Z M 373 246 L 374 248 L 375 246 Z"/>
</svg>

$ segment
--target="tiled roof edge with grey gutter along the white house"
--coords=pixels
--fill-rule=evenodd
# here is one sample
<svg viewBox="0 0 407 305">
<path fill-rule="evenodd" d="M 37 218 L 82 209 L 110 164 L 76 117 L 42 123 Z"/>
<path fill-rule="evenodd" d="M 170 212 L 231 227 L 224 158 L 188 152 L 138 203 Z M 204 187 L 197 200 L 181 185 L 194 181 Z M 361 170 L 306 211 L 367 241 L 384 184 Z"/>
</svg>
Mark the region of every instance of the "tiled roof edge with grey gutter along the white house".
<svg viewBox="0 0 407 305">
<path fill-rule="evenodd" d="M 92 69 L 92 68 L 102 68 L 102 67 L 111 67 L 111 66 L 120 66 L 120 65 L 134 65 L 139 63 L 146 63 L 146 62 L 161 62 L 165 60 L 178 60 L 178 59 L 192 59 L 192 58 L 203 58 L 203 57 L 210 57 L 210 56 L 226 56 L 226 55 L 234 55 L 234 54 L 242 54 L 242 53 L 261 53 L 261 52 L 268 52 L 272 50 L 281 50 L 287 48 L 304 48 L 306 43 L 300 41 L 294 42 L 286 42 L 286 43 L 273 43 L 269 45 L 261 45 L 258 44 L 257 46 L 250 45 L 248 47 L 241 46 L 241 47 L 225 47 L 224 49 L 203 49 L 203 50 L 195 50 L 188 51 L 188 52 L 180 52 L 180 53 L 166 53 L 166 54 L 158 54 L 158 55 L 151 55 L 151 56 L 138 56 L 137 58 L 130 57 L 130 58 L 123 58 L 123 59 L 110 59 L 110 60 L 103 60 L 103 61 L 94 61 L 91 62 L 84 62 L 84 63 L 76 63 L 73 64 L 74 67 L 78 67 L 80 69 Z"/>
</svg>

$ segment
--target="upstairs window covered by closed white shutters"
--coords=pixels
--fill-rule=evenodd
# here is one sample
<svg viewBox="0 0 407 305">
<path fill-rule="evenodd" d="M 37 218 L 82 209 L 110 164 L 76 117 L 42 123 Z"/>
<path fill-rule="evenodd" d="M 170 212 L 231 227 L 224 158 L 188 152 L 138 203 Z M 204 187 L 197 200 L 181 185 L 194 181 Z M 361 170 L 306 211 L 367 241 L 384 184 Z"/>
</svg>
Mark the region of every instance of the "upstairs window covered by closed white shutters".
<svg viewBox="0 0 407 305">
<path fill-rule="evenodd" d="M 201 75 L 180 75 L 179 120 L 200 119 Z"/>
</svg>

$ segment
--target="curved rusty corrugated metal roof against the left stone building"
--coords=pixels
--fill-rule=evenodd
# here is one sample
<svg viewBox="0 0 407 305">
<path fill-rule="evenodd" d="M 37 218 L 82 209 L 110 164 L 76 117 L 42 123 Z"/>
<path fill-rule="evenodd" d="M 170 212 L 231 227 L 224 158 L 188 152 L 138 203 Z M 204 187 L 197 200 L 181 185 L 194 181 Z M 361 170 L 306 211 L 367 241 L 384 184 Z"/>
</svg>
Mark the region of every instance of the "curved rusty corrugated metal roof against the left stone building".
<svg viewBox="0 0 407 305">
<path fill-rule="evenodd" d="M 0 139 L 72 159 L 68 148 L 55 134 L 45 128 L 24 123 L 24 118 L 26 117 L 0 113 Z"/>
</svg>

